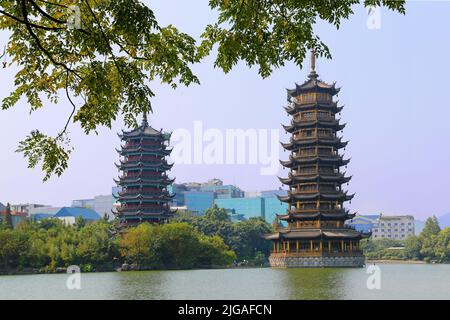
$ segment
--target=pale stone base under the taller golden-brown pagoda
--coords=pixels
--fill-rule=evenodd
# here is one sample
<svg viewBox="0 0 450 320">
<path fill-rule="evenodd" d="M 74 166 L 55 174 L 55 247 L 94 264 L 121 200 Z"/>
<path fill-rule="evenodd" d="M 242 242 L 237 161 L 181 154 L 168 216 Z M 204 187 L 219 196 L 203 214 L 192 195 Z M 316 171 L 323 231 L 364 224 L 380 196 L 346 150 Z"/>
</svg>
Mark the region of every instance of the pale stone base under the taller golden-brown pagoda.
<svg viewBox="0 0 450 320">
<path fill-rule="evenodd" d="M 366 259 L 363 255 L 341 257 L 283 257 L 271 255 L 269 263 L 272 268 L 362 268 L 366 263 Z"/>
</svg>

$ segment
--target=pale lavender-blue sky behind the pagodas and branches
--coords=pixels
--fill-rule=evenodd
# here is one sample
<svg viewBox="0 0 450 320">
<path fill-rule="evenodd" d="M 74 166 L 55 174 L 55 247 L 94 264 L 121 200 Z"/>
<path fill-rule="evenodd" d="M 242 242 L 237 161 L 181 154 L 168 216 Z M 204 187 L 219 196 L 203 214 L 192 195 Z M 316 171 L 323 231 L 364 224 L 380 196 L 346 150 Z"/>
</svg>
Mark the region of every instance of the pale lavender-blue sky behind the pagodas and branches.
<svg viewBox="0 0 450 320">
<path fill-rule="evenodd" d="M 198 37 L 214 21 L 207 3 L 160 1 L 151 7 L 162 25 L 172 23 Z M 316 26 L 333 56 L 316 62 L 319 76 L 337 82 L 339 102 L 345 105 L 343 136 L 350 141 L 345 155 L 351 157 L 347 173 L 353 176 L 348 189 L 356 193 L 348 207 L 361 214 L 425 218 L 450 212 L 450 2 L 414 1 L 406 8 L 405 16 L 382 10 L 379 29 L 367 27 L 363 7 L 355 7 L 355 15 L 339 30 L 325 23 Z M 0 47 L 6 41 L 7 35 L 0 34 Z M 281 131 L 281 123 L 290 120 L 283 110 L 286 88 L 305 81 L 307 68 L 287 63 L 262 79 L 257 69 L 243 63 L 224 74 L 213 67 L 210 57 L 193 70 L 201 85 L 173 90 L 150 84 L 156 93 L 150 116 L 153 127 L 193 133 L 201 121 L 204 131 L 278 130 L 280 140 L 288 141 Z M 0 69 L 1 98 L 12 90 L 15 71 Z M 118 175 L 114 162 L 118 161 L 115 148 L 120 146 L 117 132 L 124 128 L 120 119 L 111 130 L 101 128 L 98 135 L 89 136 L 78 124 L 71 124 L 75 151 L 69 168 L 45 183 L 40 168 L 27 168 L 23 156 L 14 152 L 33 129 L 57 133 L 69 113 L 64 99 L 31 114 L 25 100 L 0 110 L 0 202 L 62 206 L 73 199 L 110 193 Z M 288 157 L 281 149 L 274 152 L 281 159 Z M 279 168 L 275 174 L 262 174 L 262 166 L 182 162 L 175 164 L 171 176 L 178 183 L 220 178 L 249 191 L 281 187 L 277 175 L 286 176 L 287 171 Z"/>
</svg>

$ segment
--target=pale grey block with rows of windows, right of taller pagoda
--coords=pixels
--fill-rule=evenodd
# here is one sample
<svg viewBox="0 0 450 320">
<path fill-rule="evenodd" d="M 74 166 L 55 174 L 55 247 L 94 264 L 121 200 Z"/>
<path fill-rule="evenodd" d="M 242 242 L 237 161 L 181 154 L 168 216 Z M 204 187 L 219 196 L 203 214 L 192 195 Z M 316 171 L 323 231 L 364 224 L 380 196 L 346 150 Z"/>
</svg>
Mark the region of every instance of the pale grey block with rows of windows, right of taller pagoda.
<svg viewBox="0 0 450 320">
<path fill-rule="evenodd" d="M 394 239 L 405 240 L 409 236 L 413 236 L 414 217 L 405 216 L 385 216 L 381 215 L 378 224 L 374 226 L 372 231 L 372 239 Z"/>
</svg>

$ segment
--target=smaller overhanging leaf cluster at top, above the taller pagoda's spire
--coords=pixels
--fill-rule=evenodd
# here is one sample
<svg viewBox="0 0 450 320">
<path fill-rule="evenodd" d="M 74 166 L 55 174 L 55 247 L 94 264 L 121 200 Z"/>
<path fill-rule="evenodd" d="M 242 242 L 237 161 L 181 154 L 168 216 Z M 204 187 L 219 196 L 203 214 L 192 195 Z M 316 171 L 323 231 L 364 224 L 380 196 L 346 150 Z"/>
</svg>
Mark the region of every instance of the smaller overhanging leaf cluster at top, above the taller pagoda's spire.
<svg viewBox="0 0 450 320">
<path fill-rule="evenodd" d="M 210 0 L 210 7 L 219 11 L 219 17 L 206 27 L 199 51 L 206 55 L 217 44 L 215 66 L 228 72 L 242 60 L 248 66 L 258 66 L 262 77 L 286 61 L 301 67 L 308 48 L 331 58 L 329 48 L 315 34 L 314 25 L 322 20 L 338 29 L 342 20 L 353 14 L 352 7 L 361 2 L 405 13 L 402 0 Z"/>
</svg>

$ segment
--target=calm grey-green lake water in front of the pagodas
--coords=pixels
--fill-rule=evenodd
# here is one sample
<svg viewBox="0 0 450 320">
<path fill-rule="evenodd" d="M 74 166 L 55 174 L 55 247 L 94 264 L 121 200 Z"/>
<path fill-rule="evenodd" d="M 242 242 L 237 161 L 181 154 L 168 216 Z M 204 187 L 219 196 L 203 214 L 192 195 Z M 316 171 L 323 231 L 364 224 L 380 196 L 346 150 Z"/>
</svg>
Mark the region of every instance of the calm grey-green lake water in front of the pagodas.
<svg viewBox="0 0 450 320">
<path fill-rule="evenodd" d="M 0 299 L 450 299 L 450 265 L 383 264 L 381 289 L 366 269 L 224 269 L 0 276 Z"/>
</svg>

